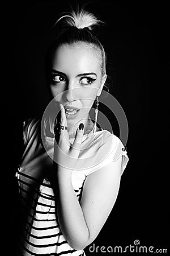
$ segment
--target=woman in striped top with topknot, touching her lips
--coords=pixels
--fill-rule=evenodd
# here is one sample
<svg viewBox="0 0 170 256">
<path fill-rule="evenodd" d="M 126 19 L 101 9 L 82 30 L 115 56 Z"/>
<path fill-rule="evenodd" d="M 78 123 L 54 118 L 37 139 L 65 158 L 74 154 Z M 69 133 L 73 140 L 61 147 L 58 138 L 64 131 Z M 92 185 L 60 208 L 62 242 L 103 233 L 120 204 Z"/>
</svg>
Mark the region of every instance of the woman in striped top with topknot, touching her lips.
<svg viewBox="0 0 170 256">
<path fill-rule="evenodd" d="M 24 122 L 16 173 L 19 255 L 84 255 L 113 208 L 129 160 L 120 139 L 97 127 L 107 78 L 105 52 L 93 35 L 100 20 L 82 10 L 57 23 L 62 26 L 46 61 L 53 100 L 41 119 Z"/>
</svg>

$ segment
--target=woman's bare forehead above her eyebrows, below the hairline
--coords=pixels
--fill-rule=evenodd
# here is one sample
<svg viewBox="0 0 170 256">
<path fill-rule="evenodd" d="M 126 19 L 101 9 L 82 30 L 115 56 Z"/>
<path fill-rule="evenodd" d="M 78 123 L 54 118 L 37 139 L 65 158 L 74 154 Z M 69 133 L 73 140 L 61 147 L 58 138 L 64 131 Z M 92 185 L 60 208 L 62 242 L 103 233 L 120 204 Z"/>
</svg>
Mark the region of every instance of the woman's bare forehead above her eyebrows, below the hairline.
<svg viewBox="0 0 170 256">
<path fill-rule="evenodd" d="M 59 46 L 52 56 L 52 68 L 66 73 L 66 75 L 88 72 L 100 75 L 101 72 L 96 49 L 92 49 L 86 44 Z"/>
</svg>

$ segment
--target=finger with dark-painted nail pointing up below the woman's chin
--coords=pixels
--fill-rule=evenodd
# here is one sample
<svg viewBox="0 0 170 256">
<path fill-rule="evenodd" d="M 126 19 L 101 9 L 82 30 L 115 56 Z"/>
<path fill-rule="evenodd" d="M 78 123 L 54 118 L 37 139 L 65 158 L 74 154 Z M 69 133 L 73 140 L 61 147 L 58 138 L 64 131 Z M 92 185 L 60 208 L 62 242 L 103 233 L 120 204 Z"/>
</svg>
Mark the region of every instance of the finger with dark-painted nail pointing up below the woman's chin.
<svg viewBox="0 0 170 256">
<path fill-rule="evenodd" d="M 78 158 L 79 156 L 80 148 L 82 146 L 83 134 L 84 134 L 84 124 L 80 123 L 79 128 L 76 130 L 73 145 L 71 146 L 71 156 L 73 158 Z"/>
</svg>

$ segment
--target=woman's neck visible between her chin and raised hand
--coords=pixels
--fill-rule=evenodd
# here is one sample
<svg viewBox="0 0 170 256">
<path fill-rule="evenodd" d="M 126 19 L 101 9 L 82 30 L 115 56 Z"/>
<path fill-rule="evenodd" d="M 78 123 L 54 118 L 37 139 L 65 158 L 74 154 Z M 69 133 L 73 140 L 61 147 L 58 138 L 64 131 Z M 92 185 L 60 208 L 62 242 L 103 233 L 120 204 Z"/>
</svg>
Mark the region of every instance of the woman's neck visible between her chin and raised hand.
<svg viewBox="0 0 170 256">
<path fill-rule="evenodd" d="M 87 119 L 82 119 L 79 122 L 75 123 L 74 125 L 69 125 L 68 123 L 67 126 L 68 126 L 69 138 L 75 138 L 76 130 L 78 129 L 80 123 L 84 124 L 84 134 L 90 133 L 94 127 L 94 123 L 91 121 L 90 115 L 88 115 Z"/>
</svg>

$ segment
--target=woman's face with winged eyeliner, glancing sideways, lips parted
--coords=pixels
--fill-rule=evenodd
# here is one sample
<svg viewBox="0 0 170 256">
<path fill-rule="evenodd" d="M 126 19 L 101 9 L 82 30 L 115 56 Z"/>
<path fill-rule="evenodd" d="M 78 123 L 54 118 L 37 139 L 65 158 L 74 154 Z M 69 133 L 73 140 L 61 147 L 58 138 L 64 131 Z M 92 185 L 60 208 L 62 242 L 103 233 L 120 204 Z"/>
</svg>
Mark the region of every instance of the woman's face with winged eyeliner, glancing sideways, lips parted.
<svg viewBox="0 0 170 256">
<path fill-rule="evenodd" d="M 67 123 L 87 118 L 105 82 L 96 50 L 83 43 L 59 46 L 51 67 L 50 90 L 64 106 Z"/>
</svg>

